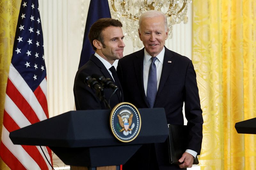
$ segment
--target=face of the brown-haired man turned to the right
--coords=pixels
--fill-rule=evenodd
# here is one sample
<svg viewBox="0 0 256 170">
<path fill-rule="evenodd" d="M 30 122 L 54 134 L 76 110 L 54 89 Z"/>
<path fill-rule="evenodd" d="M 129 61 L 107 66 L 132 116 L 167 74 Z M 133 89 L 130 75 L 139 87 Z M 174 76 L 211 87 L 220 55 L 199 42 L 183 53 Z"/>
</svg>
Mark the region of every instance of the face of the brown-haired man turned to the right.
<svg viewBox="0 0 256 170">
<path fill-rule="evenodd" d="M 102 54 L 106 60 L 113 63 L 116 59 L 123 58 L 124 52 L 124 34 L 119 26 L 109 26 L 102 31 L 103 43 L 105 47 L 101 48 Z"/>
</svg>

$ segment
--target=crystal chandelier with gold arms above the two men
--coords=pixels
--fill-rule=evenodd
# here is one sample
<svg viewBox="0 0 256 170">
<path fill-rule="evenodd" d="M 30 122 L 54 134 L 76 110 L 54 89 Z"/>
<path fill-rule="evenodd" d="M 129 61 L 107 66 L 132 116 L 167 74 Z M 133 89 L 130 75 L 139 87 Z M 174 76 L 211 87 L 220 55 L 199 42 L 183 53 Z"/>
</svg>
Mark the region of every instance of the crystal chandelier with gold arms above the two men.
<svg viewBox="0 0 256 170">
<path fill-rule="evenodd" d="M 172 38 L 172 26 L 188 23 L 188 3 L 191 0 L 108 0 L 111 17 L 118 19 L 125 26 L 124 35 L 132 40 L 133 47 L 142 47 L 138 35 L 139 18 L 148 10 L 158 10 L 165 13 L 169 28 L 169 38 Z"/>
</svg>

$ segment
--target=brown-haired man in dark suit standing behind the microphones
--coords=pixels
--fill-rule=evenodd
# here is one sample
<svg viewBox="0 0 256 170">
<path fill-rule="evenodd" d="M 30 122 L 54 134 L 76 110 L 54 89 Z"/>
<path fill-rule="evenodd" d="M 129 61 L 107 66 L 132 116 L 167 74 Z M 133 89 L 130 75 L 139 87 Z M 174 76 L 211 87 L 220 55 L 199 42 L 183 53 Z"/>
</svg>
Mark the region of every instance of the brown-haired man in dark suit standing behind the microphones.
<svg viewBox="0 0 256 170">
<path fill-rule="evenodd" d="M 111 18 L 101 18 L 91 26 L 88 37 L 95 54 L 76 73 L 74 83 L 76 110 L 108 109 L 108 105 L 96 96 L 95 90 L 84 84 L 84 75 L 95 74 L 111 78 L 118 86 L 119 90 L 114 95 L 111 88 L 104 88 L 104 96 L 107 101 L 110 101 L 111 108 L 124 100 L 116 69 L 113 66 L 117 59 L 123 57 L 125 45 L 121 27 L 120 21 Z"/>
</svg>

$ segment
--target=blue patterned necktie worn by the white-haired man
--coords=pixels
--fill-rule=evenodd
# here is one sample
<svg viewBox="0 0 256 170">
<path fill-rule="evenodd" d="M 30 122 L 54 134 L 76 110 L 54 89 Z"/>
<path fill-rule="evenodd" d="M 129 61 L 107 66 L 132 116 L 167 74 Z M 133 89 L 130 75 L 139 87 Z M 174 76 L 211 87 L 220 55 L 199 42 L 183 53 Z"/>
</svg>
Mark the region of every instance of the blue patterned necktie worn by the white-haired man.
<svg viewBox="0 0 256 170">
<path fill-rule="evenodd" d="M 147 100 L 150 108 L 154 107 L 156 93 L 157 93 L 157 79 L 156 79 L 156 57 L 151 57 L 151 64 L 148 72 L 148 88 Z"/>
</svg>

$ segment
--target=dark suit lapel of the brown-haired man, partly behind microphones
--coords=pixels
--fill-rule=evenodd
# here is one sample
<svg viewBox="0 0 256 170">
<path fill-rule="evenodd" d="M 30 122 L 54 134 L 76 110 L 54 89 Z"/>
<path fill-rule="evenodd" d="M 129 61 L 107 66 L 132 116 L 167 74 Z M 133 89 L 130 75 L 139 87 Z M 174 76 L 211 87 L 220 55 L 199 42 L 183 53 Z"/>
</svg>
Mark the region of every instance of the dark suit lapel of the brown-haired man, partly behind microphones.
<svg viewBox="0 0 256 170">
<path fill-rule="evenodd" d="M 104 66 L 104 64 L 95 55 L 92 55 L 90 60 L 92 60 L 92 62 L 94 62 L 99 67 L 100 71 L 102 72 L 102 75 L 105 78 L 111 78 L 112 82 L 115 82 L 113 80 L 112 76 L 110 75 L 110 73 L 108 72 L 107 68 Z M 121 91 L 121 96 L 122 97 L 120 97 L 120 95 L 117 94 L 117 92 L 119 92 L 119 91 L 116 92 L 116 95 L 118 97 L 119 102 L 122 102 L 123 101 L 122 99 L 124 98 L 123 97 L 124 95 L 123 95 L 122 87 L 119 87 L 119 88 L 120 88 L 119 90 Z"/>
</svg>

